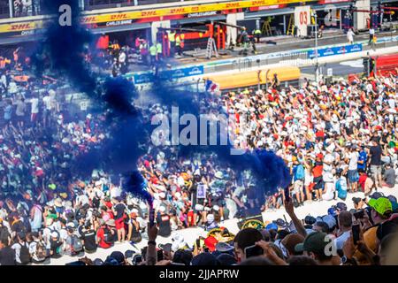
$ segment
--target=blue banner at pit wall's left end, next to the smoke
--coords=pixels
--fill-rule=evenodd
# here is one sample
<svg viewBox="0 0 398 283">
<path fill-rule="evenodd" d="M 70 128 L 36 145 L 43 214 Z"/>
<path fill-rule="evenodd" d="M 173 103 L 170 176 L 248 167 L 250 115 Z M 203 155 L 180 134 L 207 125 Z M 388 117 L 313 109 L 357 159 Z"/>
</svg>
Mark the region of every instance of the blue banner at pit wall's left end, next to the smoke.
<svg viewBox="0 0 398 283">
<path fill-rule="evenodd" d="M 203 65 L 194 65 L 185 68 L 159 71 L 159 77 L 165 80 L 172 80 L 172 79 L 197 76 L 203 73 L 204 73 Z M 134 73 L 133 77 L 134 77 L 134 84 L 139 85 L 151 82 L 154 79 L 154 74 L 151 72 Z"/>
</svg>

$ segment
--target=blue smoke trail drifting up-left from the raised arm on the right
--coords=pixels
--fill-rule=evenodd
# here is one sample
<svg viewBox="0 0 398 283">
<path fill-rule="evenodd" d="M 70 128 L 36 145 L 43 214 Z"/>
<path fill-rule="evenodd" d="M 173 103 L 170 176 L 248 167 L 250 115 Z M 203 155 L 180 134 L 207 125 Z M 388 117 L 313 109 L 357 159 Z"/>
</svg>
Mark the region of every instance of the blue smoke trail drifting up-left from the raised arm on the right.
<svg viewBox="0 0 398 283">
<path fill-rule="evenodd" d="M 209 94 L 197 94 L 189 88 L 180 90 L 171 87 L 171 85 L 165 82 L 165 80 L 156 78 L 153 82 L 151 92 L 164 105 L 178 106 L 180 115 L 191 113 L 198 118 L 203 110 L 206 111 L 206 108 L 203 105 L 201 106 L 201 99 L 211 98 Z M 222 112 L 220 106 L 218 112 Z M 198 141 L 196 142 L 200 144 L 199 137 L 205 133 L 201 133 L 200 126 L 197 127 L 197 130 Z M 232 155 L 231 149 L 233 149 L 233 144 L 231 144 L 229 139 L 226 145 L 220 145 L 221 137 L 219 130 L 217 132 L 218 145 L 209 145 L 211 133 L 207 133 L 207 145 L 180 145 L 180 157 L 191 157 L 194 153 L 198 152 L 215 153 L 223 163 L 230 166 L 235 172 L 251 170 L 256 176 L 258 186 L 263 188 L 264 193 L 275 191 L 278 187 L 287 187 L 290 184 L 292 179 L 290 170 L 281 157 L 278 157 L 273 151 L 266 149 L 256 149 L 244 152 L 241 155 Z"/>
</svg>

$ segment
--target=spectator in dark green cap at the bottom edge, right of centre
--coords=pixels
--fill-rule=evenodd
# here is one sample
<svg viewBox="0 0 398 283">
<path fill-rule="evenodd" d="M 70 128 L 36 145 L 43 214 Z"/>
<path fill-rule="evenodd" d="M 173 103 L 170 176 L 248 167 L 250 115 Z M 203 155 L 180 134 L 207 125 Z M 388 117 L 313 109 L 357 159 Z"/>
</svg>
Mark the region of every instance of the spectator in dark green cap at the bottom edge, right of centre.
<svg viewBox="0 0 398 283">
<path fill-rule="evenodd" d="M 319 265 L 338 265 L 333 260 L 333 254 L 327 253 L 330 251 L 328 245 L 331 244 L 333 245 L 333 241 L 327 237 L 326 233 L 314 232 L 295 246 L 295 252 L 302 252 L 304 256 L 310 256 Z"/>
</svg>

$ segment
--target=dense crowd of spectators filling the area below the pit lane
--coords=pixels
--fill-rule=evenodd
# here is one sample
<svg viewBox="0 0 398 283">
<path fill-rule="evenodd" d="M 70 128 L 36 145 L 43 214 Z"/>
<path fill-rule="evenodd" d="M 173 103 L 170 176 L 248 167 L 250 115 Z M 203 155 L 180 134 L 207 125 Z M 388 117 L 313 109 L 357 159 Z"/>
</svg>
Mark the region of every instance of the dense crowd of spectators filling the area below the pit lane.
<svg viewBox="0 0 398 283">
<path fill-rule="evenodd" d="M 283 188 L 259 194 L 263 190 L 249 171 L 234 172 L 210 153 L 179 157 L 176 148 L 149 145 L 138 164 L 157 212 L 157 226 L 148 227 L 146 203 L 126 194 L 109 172 L 99 167 L 91 178 L 82 179 L 73 168 L 76 158 L 101 148 L 107 136 L 103 117 L 71 115 L 56 80 L 39 84 L 25 78 L 29 60 L 20 50 L 2 62 L 0 264 L 49 263 L 142 239 L 149 246 L 141 255 L 115 252 L 104 264 L 394 262 L 398 80 L 393 74 L 331 85 L 305 81 L 300 88 L 274 83 L 265 91 L 231 91 L 201 102 L 203 111 L 234 117 L 229 128 L 236 148 L 272 149 L 286 161 L 293 175 L 292 200 L 287 201 Z M 159 104 L 144 111 L 149 117 L 170 114 Z M 380 195 L 381 187 L 391 194 Z M 356 192 L 364 198 L 353 200 L 355 211 L 347 211 L 343 203 L 326 216 L 306 218 L 305 226 L 295 217 L 294 207 L 346 202 Z M 292 219 L 289 225 L 277 221 L 236 235 L 222 228 L 223 220 L 281 206 Z M 353 225 L 360 227 L 355 243 Z M 176 233 L 157 254 L 157 234 L 169 237 L 191 226 L 213 233 L 194 246 Z M 337 254 L 323 254 L 326 235 L 336 238 Z M 164 260 L 154 259 L 154 253 Z M 79 262 L 94 264 L 87 257 Z"/>
</svg>

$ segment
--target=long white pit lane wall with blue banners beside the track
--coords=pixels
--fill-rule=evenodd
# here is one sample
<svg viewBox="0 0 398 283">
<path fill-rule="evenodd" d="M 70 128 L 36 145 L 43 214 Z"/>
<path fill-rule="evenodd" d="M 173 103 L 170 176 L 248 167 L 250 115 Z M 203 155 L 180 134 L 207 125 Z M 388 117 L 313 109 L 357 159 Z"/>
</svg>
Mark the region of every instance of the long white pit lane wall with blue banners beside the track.
<svg viewBox="0 0 398 283">
<path fill-rule="evenodd" d="M 331 63 L 343 60 L 351 60 L 367 56 L 370 54 L 384 54 L 398 52 L 396 43 L 398 35 L 378 38 L 379 43 L 392 43 L 395 47 L 379 48 L 377 50 L 365 50 L 368 46 L 367 41 L 357 42 L 355 44 L 335 44 L 330 46 L 321 46 L 318 48 L 318 61 L 322 63 Z M 384 53 L 383 53 L 384 52 Z M 269 65 L 273 66 L 309 66 L 315 65 L 315 50 L 306 48 L 300 50 L 279 51 L 268 54 L 261 54 L 249 57 L 229 58 L 224 60 L 205 62 L 199 65 L 175 66 L 169 70 L 161 70 L 159 73 L 165 78 L 180 83 L 199 83 L 203 77 L 210 73 L 239 73 L 243 71 L 258 70 Z M 163 74 L 162 74 L 163 73 Z M 134 80 L 136 85 L 146 88 L 149 81 L 153 78 L 152 72 L 127 73 L 126 78 Z"/>
</svg>

